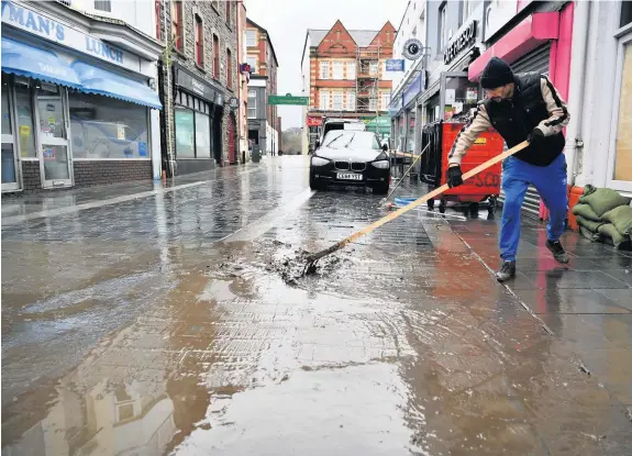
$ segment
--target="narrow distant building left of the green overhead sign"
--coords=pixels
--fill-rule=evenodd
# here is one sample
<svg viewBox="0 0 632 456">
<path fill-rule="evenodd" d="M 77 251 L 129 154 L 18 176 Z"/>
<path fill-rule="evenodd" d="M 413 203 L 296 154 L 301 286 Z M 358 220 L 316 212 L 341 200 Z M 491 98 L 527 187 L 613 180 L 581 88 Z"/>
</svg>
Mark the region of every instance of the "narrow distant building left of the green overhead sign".
<svg viewBox="0 0 632 456">
<path fill-rule="evenodd" d="M 269 33 L 250 18 L 246 23 L 248 82 L 248 140 L 263 154 L 276 155 L 280 140 L 277 107 L 268 96 L 277 93 L 278 60 Z"/>
</svg>

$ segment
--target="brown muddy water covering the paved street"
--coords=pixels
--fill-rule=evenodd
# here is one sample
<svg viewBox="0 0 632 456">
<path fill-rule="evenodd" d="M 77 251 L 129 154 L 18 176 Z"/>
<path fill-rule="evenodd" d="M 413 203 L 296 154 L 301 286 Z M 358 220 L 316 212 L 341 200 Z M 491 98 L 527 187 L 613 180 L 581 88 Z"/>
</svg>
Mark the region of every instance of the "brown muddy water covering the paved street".
<svg viewBox="0 0 632 456">
<path fill-rule="evenodd" d="M 3 242 L 2 454 L 630 454 L 621 403 L 445 221 L 408 216 L 287 280 L 378 199 L 317 193 L 213 244 L 191 234 L 203 197 L 173 201 L 177 241 Z"/>
</svg>

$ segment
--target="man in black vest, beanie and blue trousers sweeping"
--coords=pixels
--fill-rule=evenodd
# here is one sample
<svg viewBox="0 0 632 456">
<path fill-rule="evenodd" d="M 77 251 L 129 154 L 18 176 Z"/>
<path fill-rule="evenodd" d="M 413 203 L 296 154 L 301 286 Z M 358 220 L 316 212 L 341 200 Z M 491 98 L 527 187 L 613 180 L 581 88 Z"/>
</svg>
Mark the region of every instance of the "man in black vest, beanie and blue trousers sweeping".
<svg viewBox="0 0 632 456">
<path fill-rule="evenodd" d="M 514 75 L 509 65 L 497 57 L 483 70 L 480 85 L 487 97 L 454 141 L 448 154 L 447 185 L 463 183 L 461 160 L 488 127 L 496 129 L 508 147 L 529 141 L 529 147 L 502 162 L 505 205 L 499 240 L 502 265 L 496 278 L 506 281 L 515 276 L 520 212 L 529 185 L 535 187 L 551 214 L 546 247 L 557 262 L 568 263 L 568 255 L 559 243 L 568 208 L 562 133 L 569 120 L 566 104 L 546 76 Z"/>
</svg>

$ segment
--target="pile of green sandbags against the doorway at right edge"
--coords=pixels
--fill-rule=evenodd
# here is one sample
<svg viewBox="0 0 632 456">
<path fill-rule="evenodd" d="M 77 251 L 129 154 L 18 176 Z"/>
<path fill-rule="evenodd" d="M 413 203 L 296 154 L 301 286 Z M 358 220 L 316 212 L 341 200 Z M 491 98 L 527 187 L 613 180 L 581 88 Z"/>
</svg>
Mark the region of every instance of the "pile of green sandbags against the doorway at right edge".
<svg viewBox="0 0 632 456">
<path fill-rule="evenodd" d="M 586 186 L 573 208 L 579 232 L 595 242 L 620 249 L 632 249 L 632 208 L 630 199 L 609 188 Z"/>
</svg>

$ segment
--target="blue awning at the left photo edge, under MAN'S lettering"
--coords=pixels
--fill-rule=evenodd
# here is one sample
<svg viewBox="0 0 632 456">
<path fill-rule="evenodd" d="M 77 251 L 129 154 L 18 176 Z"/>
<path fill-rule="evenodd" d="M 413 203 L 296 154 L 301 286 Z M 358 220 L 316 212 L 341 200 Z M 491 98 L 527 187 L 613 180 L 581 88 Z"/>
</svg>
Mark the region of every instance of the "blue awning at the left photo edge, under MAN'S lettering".
<svg viewBox="0 0 632 456">
<path fill-rule="evenodd" d="M 55 53 L 2 37 L 2 71 L 79 89 L 77 74 Z"/>
</svg>

